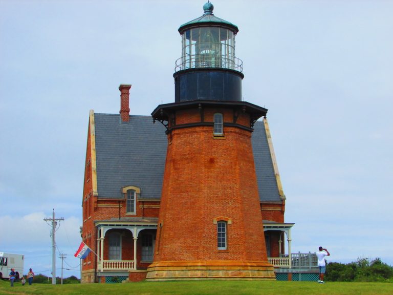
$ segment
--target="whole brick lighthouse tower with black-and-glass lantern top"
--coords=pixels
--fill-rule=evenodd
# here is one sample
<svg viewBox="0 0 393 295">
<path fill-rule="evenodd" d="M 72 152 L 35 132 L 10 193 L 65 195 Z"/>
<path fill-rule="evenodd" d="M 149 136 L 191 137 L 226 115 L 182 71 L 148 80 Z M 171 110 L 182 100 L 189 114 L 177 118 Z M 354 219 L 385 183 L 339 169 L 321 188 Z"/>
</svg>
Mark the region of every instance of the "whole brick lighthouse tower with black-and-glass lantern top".
<svg viewBox="0 0 393 295">
<path fill-rule="evenodd" d="M 179 28 L 175 102 L 153 112 L 166 127 L 154 262 L 147 280 L 274 280 L 268 263 L 251 136 L 267 110 L 242 101 L 238 28 L 213 5 Z"/>
</svg>

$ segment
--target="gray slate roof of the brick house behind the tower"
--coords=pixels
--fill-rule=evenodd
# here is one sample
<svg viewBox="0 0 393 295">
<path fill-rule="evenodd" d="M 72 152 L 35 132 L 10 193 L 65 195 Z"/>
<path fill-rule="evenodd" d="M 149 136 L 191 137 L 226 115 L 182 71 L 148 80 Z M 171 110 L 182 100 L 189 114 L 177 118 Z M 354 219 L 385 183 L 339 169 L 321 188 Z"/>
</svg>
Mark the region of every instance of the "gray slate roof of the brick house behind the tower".
<svg viewBox="0 0 393 295">
<path fill-rule="evenodd" d="M 160 199 L 167 138 L 164 126 L 151 116 L 94 114 L 99 198 L 122 198 L 121 188 L 141 188 L 141 198 Z M 264 123 L 257 121 L 252 134 L 260 201 L 280 201 Z"/>
</svg>

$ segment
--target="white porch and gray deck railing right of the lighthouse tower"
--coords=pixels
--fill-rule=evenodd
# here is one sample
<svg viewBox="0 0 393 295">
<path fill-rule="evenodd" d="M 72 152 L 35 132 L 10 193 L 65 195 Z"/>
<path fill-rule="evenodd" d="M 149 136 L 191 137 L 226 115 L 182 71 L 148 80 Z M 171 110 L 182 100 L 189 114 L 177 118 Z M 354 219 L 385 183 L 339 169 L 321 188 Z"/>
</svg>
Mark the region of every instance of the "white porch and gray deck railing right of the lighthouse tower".
<svg viewBox="0 0 393 295">
<path fill-rule="evenodd" d="M 273 266 L 281 268 L 289 268 L 289 257 L 283 255 L 282 257 L 269 257 L 269 263 Z M 318 258 L 315 253 L 292 253 L 291 254 L 291 267 L 292 268 L 315 268 L 318 267 Z"/>
</svg>

